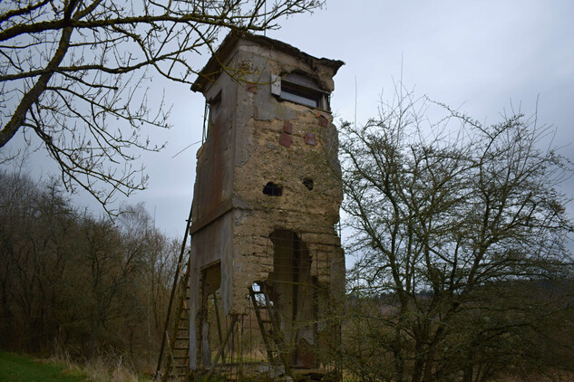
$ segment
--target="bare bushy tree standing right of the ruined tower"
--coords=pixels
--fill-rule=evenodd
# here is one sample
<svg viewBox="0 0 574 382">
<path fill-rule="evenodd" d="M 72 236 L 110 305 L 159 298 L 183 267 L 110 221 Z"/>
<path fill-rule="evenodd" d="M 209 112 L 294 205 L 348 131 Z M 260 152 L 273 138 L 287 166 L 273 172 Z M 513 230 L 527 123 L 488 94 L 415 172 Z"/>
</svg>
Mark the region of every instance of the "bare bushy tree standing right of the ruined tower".
<svg viewBox="0 0 574 382">
<path fill-rule="evenodd" d="M 430 105 L 447 118 L 430 125 Z M 346 360 L 362 379 L 487 380 L 571 307 L 572 167 L 551 137 L 535 117 L 484 126 L 402 86 L 377 119 L 343 126 L 359 297 Z"/>
</svg>

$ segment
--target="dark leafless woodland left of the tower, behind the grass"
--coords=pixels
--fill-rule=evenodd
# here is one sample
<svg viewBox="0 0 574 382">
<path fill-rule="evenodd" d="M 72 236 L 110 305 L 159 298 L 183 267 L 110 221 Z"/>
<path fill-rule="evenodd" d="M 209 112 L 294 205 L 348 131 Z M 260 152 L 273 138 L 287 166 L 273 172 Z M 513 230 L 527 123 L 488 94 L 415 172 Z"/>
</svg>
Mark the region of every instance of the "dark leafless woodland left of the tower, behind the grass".
<svg viewBox="0 0 574 382">
<path fill-rule="evenodd" d="M 153 363 L 179 245 L 143 205 L 112 222 L 57 181 L 0 173 L 0 348 Z"/>
</svg>

